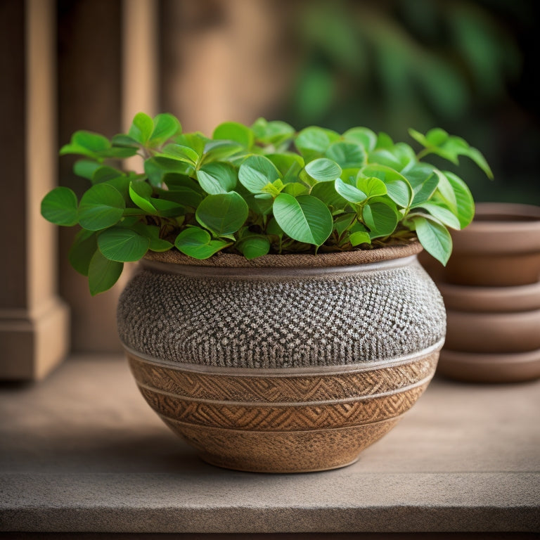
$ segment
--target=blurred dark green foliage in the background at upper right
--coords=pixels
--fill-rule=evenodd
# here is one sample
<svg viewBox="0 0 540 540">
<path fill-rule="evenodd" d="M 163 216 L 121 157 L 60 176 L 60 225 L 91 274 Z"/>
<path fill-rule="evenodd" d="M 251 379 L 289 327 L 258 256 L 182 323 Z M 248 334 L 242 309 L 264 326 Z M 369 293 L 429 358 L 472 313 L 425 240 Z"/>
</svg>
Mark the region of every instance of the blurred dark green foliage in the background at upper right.
<svg viewBox="0 0 540 540">
<path fill-rule="evenodd" d="M 535 4 L 296 2 L 301 60 L 282 115 L 297 127 L 360 124 L 398 139 L 442 125 L 494 169 L 492 183 L 465 169 L 477 200 L 540 204 Z"/>
</svg>

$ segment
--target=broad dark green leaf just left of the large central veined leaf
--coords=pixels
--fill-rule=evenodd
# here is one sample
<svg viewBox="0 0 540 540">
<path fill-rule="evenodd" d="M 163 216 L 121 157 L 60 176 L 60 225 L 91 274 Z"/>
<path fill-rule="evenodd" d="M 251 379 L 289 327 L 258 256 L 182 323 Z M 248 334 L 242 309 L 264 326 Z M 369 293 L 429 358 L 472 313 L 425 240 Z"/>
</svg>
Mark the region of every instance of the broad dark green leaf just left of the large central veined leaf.
<svg viewBox="0 0 540 540">
<path fill-rule="evenodd" d="M 236 233 L 248 219 L 248 203 L 235 191 L 208 195 L 197 208 L 195 218 L 217 236 Z"/>
</svg>

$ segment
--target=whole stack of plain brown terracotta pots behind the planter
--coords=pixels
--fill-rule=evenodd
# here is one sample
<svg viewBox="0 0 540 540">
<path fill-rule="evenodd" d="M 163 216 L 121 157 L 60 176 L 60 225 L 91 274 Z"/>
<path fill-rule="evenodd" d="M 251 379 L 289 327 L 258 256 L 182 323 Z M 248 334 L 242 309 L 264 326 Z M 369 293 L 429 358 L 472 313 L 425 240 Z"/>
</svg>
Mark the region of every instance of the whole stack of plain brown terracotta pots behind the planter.
<svg viewBox="0 0 540 540">
<path fill-rule="evenodd" d="M 507 383 L 540 377 L 540 207 L 479 203 L 446 268 L 423 258 L 447 331 L 437 372 Z"/>
</svg>

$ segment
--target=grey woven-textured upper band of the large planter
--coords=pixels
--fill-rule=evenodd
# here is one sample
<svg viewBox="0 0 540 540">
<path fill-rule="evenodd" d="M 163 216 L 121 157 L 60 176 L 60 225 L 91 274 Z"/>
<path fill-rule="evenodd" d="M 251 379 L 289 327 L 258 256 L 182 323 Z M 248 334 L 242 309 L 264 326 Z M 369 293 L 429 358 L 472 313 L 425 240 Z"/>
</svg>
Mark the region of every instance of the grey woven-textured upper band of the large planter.
<svg viewBox="0 0 540 540">
<path fill-rule="evenodd" d="M 165 361 L 332 366 L 420 352 L 444 337 L 446 314 L 418 262 L 293 279 L 141 269 L 120 297 L 118 330 L 127 347 Z"/>
</svg>

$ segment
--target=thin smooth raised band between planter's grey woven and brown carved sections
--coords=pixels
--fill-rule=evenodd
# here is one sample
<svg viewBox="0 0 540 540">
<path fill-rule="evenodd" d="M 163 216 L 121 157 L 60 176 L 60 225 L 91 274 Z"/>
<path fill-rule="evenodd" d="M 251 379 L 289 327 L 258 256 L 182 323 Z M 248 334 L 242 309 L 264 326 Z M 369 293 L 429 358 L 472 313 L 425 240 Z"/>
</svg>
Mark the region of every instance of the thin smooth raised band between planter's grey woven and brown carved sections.
<svg viewBox="0 0 540 540">
<path fill-rule="evenodd" d="M 179 371 L 191 371 L 205 373 L 207 375 L 231 375 L 235 377 L 303 377 L 306 375 L 340 375 L 343 373 L 373 371 L 375 369 L 411 364 L 439 352 L 444 345 L 444 340 L 445 338 L 442 338 L 433 345 L 430 345 L 430 347 L 426 347 L 421 351 L 389 358 L 384 361 L 359 362 L 357 364 L 343 364 L 339 366 L 305 366 L 301 368 L 232 368 L 225 366 L 207 366 L 206 364 L 174 362 L 156 358 L 155 356 L 150 356 L 150 354 L 132 349 L 123 342 L 122 347 L 124 347 L 124 351 L 127 352 L 128 355 L 134 356 L 138 361 Z"/>
</svg>

